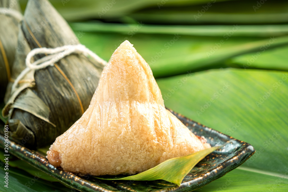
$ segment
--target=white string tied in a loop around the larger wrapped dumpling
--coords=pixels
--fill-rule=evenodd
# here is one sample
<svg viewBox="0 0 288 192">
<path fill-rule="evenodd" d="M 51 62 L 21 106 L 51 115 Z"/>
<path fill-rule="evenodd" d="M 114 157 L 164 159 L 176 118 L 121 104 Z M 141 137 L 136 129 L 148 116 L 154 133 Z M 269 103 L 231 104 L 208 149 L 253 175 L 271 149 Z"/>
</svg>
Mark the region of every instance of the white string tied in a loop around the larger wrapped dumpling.
<svg viewBox="0 0 288 192">
<path fill-rule="evenodd" d="M 18 77 L 15 79 L 12 90 L 16 88 L 19 81 L 27 74 L 29 71 L 32 70 L 39 70 L 44 69 L 48 66 L 53 66 L 54 63 L 58 62 L 60 59 L 72 54 L 84 54 L 86 57 L 90 56 L 95 61 L 103 64 L 104 66 L 107 64 L 105 60 L 100 58 L 98 55 L 93 53 L 91 50 L 86 48 L 84 45 L 78 44 L 78 45 L 64 45 L 62 47 L 56 47 L 56 48 L 46 48 L 46 47 L 40 47 L 35 48 L 31 50 L 27 56 L 26 56 L 26 68 L 18 75 Z M 31 58 L 33 58 L 37 54 L 48 54 L 35 62 L 31 63 Z"/>
</svg>

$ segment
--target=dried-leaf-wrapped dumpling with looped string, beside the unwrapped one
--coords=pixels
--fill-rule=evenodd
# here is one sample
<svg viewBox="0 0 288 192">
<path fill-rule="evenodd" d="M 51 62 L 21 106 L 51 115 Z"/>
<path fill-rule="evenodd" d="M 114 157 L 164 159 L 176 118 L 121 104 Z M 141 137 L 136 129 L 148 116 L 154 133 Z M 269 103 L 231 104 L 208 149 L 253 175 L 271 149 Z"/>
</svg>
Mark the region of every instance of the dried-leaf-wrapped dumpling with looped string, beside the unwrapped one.
<svg viewBox="0 0 288 192">
<path fill-rule="evenodd" d="M 29 0 L 20 22 L 12 78 L 26 69 L 31 50 L 76 44 L 78 38 L 49 1 Z M 31 63 L 44 56 L 35 55 Z M 51 144 L 88 108 L 103 67 L 103 62 L 74 53 L 52 66 L 30 70 L 14 89 L 10 83 L 2 113 L 9 117 L 12 139 L 27 147 Z"/>
</svg>

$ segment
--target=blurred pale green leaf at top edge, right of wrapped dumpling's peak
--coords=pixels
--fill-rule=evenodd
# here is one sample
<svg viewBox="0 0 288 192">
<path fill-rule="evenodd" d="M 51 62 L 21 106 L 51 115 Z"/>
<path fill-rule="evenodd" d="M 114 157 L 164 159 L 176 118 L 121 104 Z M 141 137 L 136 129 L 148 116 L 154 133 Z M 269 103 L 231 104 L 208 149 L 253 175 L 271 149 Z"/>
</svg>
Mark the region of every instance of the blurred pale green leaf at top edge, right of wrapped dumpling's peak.
<svg viewBox="0 0 288 192">
<path fill-rule="evenodd" d="M 227 0 L 217 0 L 227 1 Z M 20 1 L 21 7 L 24 8 L 27 0 Z M 123 15 L 135 12 L 145 7 L 177 6 L 177 5 L 195 5 L 209 3 L 211 0 L 148 0 L 148 1 L 95 1 L 95 0 L 50 0 L 53 6 L 60 12 L 66 20 L 84 20 L 89 18 L 119 18 Z"/>
</svg>

